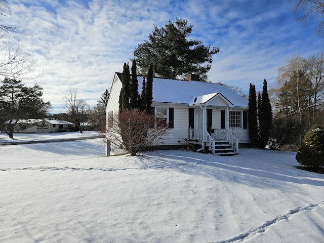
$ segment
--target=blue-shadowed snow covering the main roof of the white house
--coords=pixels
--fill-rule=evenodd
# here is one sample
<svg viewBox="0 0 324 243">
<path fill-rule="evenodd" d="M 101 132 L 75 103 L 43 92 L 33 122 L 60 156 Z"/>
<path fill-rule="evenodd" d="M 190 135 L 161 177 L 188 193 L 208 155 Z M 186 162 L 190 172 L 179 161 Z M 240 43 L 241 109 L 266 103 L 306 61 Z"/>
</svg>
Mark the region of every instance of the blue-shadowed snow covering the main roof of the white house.
<svg viewBox="0 0 324 243">
<path fill-rule="evenodd" d="M 143 76 L 138 76 L 139 94 L 142 92 L 142 80 Z M 221 93 L 234 106 L 248 107 L 249 101 L 246 98 L 225 85 L 153 77 L 153 102 L 190 104 L 192 99 L 199 97 L 200 102 L 205 103 L 216 93 Z"/>
</svg>

